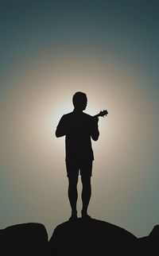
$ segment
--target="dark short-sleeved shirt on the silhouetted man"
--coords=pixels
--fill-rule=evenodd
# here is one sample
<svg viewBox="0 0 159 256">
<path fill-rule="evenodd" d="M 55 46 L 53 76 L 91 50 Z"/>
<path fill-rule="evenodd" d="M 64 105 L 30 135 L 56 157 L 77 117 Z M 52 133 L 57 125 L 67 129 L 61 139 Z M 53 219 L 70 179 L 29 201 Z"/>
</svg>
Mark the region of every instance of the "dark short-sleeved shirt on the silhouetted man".
<svg viewBox="0 0 159 256">
<path fill-rule="evenodd" d="M 66 145 L 66 161 L 93 161 L 91 134 L 98 132 L 95 119 L 86 113 L 72 111 L 60 119 L 57 130 L 63 130 Z"/>
</svg>

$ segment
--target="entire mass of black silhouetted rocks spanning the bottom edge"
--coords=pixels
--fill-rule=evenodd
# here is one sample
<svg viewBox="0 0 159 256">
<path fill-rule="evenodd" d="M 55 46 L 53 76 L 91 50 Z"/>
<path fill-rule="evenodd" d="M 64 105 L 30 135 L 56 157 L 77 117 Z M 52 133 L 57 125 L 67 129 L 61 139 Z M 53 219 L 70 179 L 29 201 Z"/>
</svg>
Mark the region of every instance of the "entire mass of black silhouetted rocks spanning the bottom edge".
<svg viewBox="0 0 159 256">
<path fill-rule="evenodd" d="M 122 227 L 98 219 L 61 223 L 49 241 L 41 223 L 17 224 L 0 230 L 2 256 L 156 256 L 158 243 L 159 225 L 138 239 Z"/>
</svg>

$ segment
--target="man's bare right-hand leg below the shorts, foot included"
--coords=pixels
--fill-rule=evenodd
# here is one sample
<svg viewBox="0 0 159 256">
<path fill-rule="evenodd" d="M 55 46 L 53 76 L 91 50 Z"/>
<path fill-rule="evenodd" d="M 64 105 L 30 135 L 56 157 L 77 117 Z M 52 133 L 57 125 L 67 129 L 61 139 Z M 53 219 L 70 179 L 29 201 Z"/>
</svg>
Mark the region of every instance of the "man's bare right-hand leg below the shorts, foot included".
<svg viewBox="0 0 159 256">
<path fill-rule="evenodd" d="M 91 176 L 81 176 L 83 189 L 82 189 L 82 203 L 83 208 L 81 211 L 82 217 L 90 217 L 87 215 L 88 204 L 91 199 Z"/>
</svg>

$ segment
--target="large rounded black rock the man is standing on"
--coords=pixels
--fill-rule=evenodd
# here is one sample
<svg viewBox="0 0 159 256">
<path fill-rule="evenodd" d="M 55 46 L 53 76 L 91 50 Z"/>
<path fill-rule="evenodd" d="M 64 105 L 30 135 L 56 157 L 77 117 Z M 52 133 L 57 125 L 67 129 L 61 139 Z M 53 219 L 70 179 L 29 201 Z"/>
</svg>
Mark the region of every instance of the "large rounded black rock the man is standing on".
<svg viewBox="0 0 159 256">
<path fill-rule="evenodd" d="M 130 232 L 97 219 L 65 222 L 49 241 L 52 255 L 135 255 L 138 239 Z"/>
</svg>

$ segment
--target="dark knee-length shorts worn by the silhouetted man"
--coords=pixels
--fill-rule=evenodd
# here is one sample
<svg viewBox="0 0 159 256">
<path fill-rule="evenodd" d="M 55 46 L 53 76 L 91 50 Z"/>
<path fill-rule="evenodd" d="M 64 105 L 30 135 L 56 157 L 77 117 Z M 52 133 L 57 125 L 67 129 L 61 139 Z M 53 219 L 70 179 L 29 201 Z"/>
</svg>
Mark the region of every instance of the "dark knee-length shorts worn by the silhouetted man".
<svg viewBox="0 0 159 256">
<path fill-rule="evenodd" d="M 67 176 L 91 176 L 92 161 L 66 161 Z"/>
</svg>

